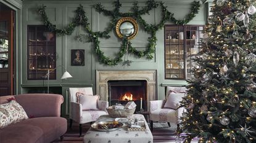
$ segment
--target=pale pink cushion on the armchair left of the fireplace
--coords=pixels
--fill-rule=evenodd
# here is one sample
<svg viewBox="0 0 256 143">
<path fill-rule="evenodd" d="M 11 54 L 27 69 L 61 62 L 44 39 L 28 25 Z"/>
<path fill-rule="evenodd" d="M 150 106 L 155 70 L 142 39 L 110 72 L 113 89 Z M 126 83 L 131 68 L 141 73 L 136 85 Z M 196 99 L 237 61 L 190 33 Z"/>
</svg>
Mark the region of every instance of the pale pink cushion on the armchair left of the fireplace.
<svg viewBox="0 0 256 143">
<path fill-rule="evenodd" d="M 83 110 L 98 110 L 97 101 L 99 96 L 97 95 L 80 95 L 78 97 L 79 103 L 82 105 Z"/>
</svg>

